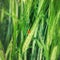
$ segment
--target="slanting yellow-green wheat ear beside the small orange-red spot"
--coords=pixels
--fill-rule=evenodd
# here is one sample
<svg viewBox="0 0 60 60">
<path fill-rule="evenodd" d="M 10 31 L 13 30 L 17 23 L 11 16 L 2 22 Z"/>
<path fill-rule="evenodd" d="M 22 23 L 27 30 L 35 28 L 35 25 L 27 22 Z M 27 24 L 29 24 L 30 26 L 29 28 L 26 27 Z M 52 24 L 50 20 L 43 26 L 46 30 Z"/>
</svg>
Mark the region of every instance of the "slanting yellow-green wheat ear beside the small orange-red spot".
<svg viewBox="0 0 60 60">
<path fill-rule="evenodd" d="M 36 19 L 36 21 L 34 22 L 32 28 L 31 28 L 31 32 L 30 34 L 27 36 L 24 44 L 23 44 L 23 47 L 22 47 L 22 53 L 24 53 L 27 49 L 28 49 L 28 46 L 32 40 L 32 37 L 33 37 L 33 34 L 35 32 L 35 29 L 36 27 L 38 26 L 38 23 L 39 23 L 39 18 Z"/>
</svg>

